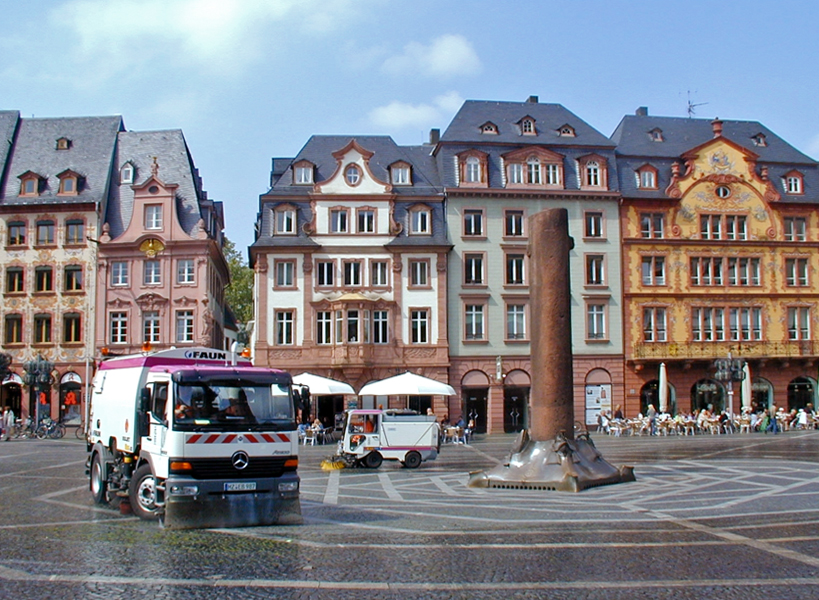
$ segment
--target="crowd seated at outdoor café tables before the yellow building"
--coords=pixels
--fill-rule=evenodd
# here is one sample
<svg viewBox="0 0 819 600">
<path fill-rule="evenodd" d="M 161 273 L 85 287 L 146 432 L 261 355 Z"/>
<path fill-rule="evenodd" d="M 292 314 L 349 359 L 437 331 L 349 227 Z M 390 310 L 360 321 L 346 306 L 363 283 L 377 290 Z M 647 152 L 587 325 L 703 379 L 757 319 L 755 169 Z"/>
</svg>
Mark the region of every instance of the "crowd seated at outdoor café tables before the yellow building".
<svg viewBox="0 0 819 600">
<path fill-rule="evenodd" d="M 653 404 L 646 407 L 645 414 L 640 413 L 634 419 L 625 419 L 618 405 L 612 414 L 601 411 L 597 419 L 597 430 L 613 435 L 660 435 L 676 433 L 693 435 L 695 433 L 750 433 L 760 431 L 779 433 L 790 429 L 815 429 L 819 425 L 819 416 L 812 404 L 805 408 L 786 411 L 772 405 L 767 409 L 752 410 L 743 407 L 738 415 L 729 415 L 726 411 L 715 411 L 712 405 L 689 413 L 671 415 L 658 411 Z"/>
</svg>

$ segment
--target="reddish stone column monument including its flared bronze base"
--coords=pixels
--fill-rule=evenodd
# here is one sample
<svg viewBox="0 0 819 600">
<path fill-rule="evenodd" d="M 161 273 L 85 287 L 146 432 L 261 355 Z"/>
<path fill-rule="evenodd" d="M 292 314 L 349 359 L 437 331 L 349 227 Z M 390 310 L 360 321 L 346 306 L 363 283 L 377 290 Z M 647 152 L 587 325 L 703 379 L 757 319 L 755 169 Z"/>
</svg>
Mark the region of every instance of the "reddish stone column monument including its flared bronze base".
<svg viewBox="0 0 819 600">
<path fill-rule="evenodd" d="M 530 429 L 520 433 L 509 459 L 470 473 L 470 487 L 578 492 L 634 481 L 631 467 L 606 462 L 587 431 L 574 432 L 571 291 L 566 209 L 529 218 L 532 387 Z"/>
</svg>

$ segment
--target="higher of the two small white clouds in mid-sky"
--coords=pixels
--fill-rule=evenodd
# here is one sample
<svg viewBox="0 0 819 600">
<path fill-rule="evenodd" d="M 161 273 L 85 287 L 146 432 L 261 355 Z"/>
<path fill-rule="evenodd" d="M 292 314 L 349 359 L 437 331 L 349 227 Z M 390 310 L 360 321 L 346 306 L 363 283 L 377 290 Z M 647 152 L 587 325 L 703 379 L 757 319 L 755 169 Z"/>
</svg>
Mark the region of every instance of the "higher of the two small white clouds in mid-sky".
<svg viewBox="0 0 819 600">
<path fill-rule="evenodd" d="M 420 73 L 446 79 L 459 75 L 476 75 L 483 66 L 472 44 L 462 35 L 442 35 L 428 45 L 412 42 L 403 54 L 384 61 L 385 73 L 406 76 Z"/>
</svg>

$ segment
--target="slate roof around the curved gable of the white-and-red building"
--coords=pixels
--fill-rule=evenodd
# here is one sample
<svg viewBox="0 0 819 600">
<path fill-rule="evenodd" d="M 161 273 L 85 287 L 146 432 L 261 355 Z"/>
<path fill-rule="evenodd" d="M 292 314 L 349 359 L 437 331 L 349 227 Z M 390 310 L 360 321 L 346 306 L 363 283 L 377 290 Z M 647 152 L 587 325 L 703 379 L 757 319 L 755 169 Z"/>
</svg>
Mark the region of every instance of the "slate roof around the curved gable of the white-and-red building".
<svg viewBox="0 0 819 600">
<path fill-rule="evenodd" d="M 426 200 L 443 200 L 436 161 L 432 156 L 432 146 L 399 146 L 389 136 L 350 136 L 350 135 L 314 135 L 298 155 L 292 159 L 275 158 L 271 167 L 271 188 L 260 199 L 261 210 L 257 223 L 256 241 L 252 247 L 316 247 L 320 244 L 302 230 L 302 226 L 312 220 L 309 196 L 313 191 L 311 185 L 293 183 L 293 164 L 307 160 L 315 165 L 314 180 L 317 183 L 326 181 L 337 168 L 333 153 L 347 146 L 350 141 L 356 143 L 373 156 L 369 168 L 373 176 L 382 182 L 390 181 L 389 166 L 404 161 L 412 166 L 412 185 L 393 186 L 395 200 L 395 218 L 404 225 L 403 231 L 388 245 L 394 246 L 431 246 L 448 245 L 444 222 L 442 202 L 430 201 L 432 209 L 431 236 L 409 236 L 407 230 L 408 208 L 417 202 Z M 282 203 L 297 207 L 297 235 L 273 235 L 273 209 Z"/>
</svg>

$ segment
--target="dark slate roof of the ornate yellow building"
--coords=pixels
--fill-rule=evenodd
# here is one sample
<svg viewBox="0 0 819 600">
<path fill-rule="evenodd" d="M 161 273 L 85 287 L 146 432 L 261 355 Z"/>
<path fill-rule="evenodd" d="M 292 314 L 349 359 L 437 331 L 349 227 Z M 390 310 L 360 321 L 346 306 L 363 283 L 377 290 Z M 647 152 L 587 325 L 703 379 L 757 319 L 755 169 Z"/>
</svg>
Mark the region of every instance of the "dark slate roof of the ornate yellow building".
<svg viewBox="0 0 819 600">
<path fill-rule="evenodd" d="M 662 131 L 663 141 L 652 141 L 649 132 Z M 754 137 L 765 136 L 765 146 L 758 146 Z M 770 129 L 757 121 L 723 120 L 722 135 L 735 144 L 757 154 L 757 170 L 768 167 L 768 177 L 774 182 L 782 199 L 795 203 L 819 202 L 819 163 L 803 154 Z M 680 156 L 692 148 L 714 139 L 710 119 L 654 117 L 628 115 L 620 121 L 611 136 L 617 144 L 617 166 L 620 189 L 633 198 L 667 198 L 665 189 L 671 181 L 671 165 L 682 162 Z M 650 164 L 658 169 L 658 190 L 637 187 L 636 169 Z M 782 177 L 791 170 L 803 175 L 804 194 L 788 196 Z"/>
</svg>

